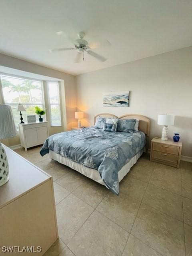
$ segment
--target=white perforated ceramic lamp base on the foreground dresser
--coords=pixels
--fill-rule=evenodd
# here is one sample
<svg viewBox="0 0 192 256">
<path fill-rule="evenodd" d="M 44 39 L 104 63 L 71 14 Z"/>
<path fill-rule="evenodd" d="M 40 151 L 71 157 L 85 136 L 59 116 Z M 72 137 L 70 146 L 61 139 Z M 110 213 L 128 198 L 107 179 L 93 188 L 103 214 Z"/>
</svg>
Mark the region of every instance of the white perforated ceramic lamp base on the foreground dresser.
<svg viewBox="0 0 192 256">
<path fill-rule="evenodd" d="M 0 142 L 0 186 L 4 185 L 9 180 L 9 165 L 6 152 Z"/>
</svg>

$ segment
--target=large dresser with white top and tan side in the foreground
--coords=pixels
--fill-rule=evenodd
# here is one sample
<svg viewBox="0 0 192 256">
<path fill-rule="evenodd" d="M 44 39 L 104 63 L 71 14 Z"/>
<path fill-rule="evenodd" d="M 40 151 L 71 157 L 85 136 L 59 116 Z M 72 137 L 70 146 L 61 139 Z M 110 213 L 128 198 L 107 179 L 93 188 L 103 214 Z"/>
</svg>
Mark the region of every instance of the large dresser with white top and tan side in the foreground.
<svg viewBox="0 0 192 256">
<path fill-rule="evenodd" d="M 0 186 L 0 255 L 42 256 L 57 240 L 53 179 L 4 146 L 10 180 Z M 3 253 L 2 246 L 38 246 L 41 252 Z"/>
</svg>

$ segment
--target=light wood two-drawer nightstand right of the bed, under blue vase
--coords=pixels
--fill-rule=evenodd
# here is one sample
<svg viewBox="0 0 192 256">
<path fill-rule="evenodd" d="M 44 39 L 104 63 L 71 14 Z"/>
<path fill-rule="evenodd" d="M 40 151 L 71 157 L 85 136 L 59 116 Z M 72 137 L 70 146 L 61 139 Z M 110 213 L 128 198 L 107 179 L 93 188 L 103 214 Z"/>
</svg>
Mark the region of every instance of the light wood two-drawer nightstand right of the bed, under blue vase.
<svg viewBox="0 0 192 256">
<path fill-rule="evenodd" d="M 179 168 L 182 142 L 153 138 L 151 141 L 150 161 Z"/>
</svg>

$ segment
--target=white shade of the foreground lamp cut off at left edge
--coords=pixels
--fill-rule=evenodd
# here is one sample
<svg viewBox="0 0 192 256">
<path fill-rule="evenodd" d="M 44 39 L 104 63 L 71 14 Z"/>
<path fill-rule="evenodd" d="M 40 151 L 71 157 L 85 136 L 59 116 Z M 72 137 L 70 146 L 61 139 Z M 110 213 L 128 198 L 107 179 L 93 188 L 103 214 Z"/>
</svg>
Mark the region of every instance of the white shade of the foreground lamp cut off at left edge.
<svg viewBox="0 0 192 256">
<path fill-rule="evenodd" d="M 12 109 L 8 105 L 0 104 L 0 139 L 16 136 L 16 127 Z"/>
</svg>

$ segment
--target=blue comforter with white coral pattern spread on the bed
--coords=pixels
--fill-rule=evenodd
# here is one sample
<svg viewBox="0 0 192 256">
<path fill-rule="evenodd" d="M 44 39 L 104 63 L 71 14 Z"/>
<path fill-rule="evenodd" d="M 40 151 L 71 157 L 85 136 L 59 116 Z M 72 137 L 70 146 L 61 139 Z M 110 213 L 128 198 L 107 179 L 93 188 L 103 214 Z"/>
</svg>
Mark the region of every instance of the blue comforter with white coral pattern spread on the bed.
<svg viewBox="0 0 192 256">
<path fill-rule="evenodd" d="M 46 139 L 40 154 L 49 150 L 98 170 L 107 188 L 119 194 L 118 171 L 144 148 L 144 132 L 104 132 L 90 127 L 54 134 Z"/>
</svg>

